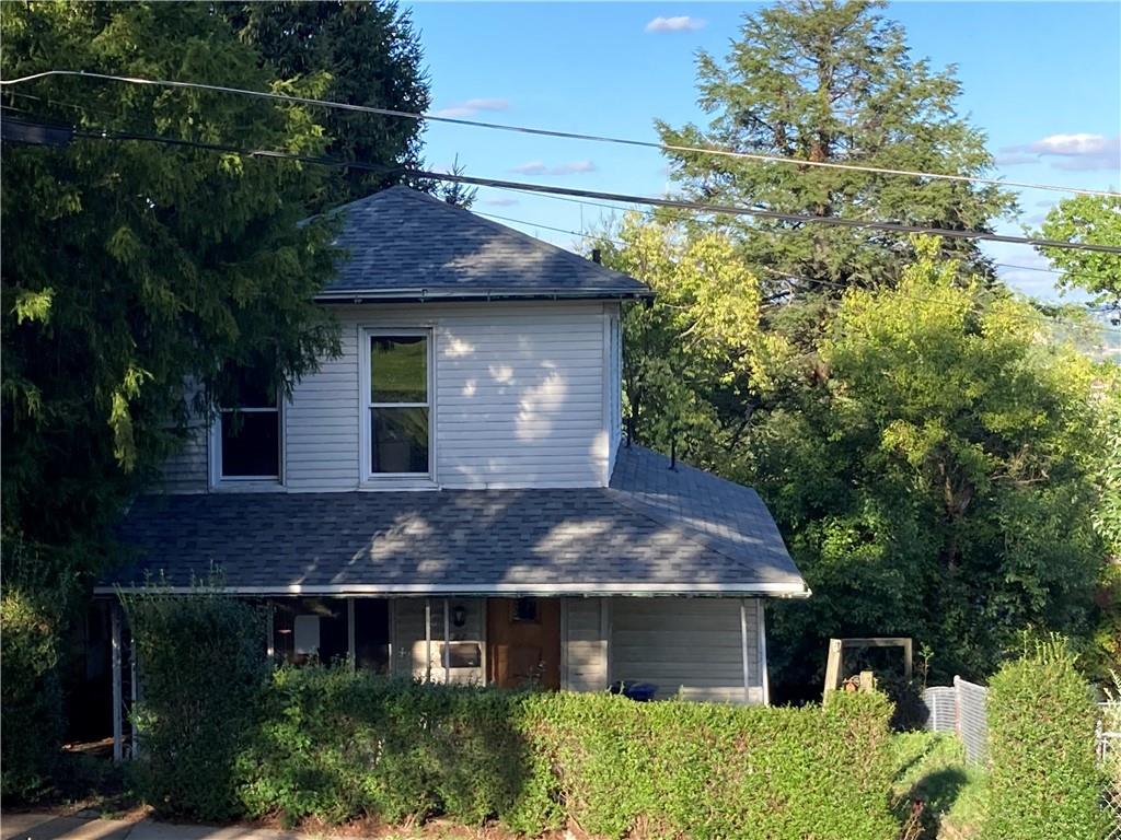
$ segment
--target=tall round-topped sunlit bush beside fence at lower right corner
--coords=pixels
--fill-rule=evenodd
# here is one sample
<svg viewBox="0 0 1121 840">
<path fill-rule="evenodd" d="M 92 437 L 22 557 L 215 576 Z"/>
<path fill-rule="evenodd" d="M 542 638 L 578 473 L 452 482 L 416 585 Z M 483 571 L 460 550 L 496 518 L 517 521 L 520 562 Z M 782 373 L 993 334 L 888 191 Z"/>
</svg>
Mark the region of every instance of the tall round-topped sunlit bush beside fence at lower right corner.
<svg viewBox="0 0 1121 840">
<path fill-rule="evenodd" d="M 1060 643 L 1007 663 L 989 688 L 991 840 L 1100 840 L 1105 813 L 1094 762 L 1094 703 Z"/>
</svg>

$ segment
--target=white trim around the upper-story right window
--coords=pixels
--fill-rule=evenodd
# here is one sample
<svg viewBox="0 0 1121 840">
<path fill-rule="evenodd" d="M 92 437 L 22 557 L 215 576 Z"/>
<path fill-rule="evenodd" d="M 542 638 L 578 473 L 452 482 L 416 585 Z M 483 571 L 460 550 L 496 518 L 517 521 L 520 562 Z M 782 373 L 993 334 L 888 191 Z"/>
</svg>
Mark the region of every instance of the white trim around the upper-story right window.
<svg viewBox="0 0 1121 840">
<path fill-rule="evenodd" d="M 436 479 L 436 330 L 433 326 L 392 327 L 386 325 L 359 327 L 358 408 L 359 408 L 359 483 L 367 489 L 430 489 Z M 427 343 L 427 402 L 373 402 L 370 396 L 370 339 L 378 336 L 402 338 L 419 336 Z M 370 428 L 370 410 L 376 408 L 428 409 L 428 472 L 374 473 Z"/>
</svg>

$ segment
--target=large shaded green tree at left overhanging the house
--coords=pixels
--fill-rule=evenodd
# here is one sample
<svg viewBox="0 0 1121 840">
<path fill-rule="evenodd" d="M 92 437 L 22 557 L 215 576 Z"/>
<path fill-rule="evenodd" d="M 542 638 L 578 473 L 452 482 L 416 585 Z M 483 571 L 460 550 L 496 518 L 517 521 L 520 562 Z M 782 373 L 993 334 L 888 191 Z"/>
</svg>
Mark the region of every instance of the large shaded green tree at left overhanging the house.
<svg viewBox="0 0 1121 840">
<path fill-rule="evenodd" d="M 2 36 L 7 78 L 76 66 L 284 87 L 201 4 L 12 3 Z M 305 109 L 219 93 L 65 77 L 3 100 L 30 112 L 9 115 L 80 128 L 313 155 L 326 143 Z M 103 562 L 120 505 L 182 439 L 185 383 L 222 388 L 232 360 L 285 386 L 334 351 L 336 326 L 312 304 L 333 270 L 331 232 L 297 224 L 323 172 L 75 138 L 6 143 L 0 177 L 4 532 L 66 582 Z"/>
</svg>

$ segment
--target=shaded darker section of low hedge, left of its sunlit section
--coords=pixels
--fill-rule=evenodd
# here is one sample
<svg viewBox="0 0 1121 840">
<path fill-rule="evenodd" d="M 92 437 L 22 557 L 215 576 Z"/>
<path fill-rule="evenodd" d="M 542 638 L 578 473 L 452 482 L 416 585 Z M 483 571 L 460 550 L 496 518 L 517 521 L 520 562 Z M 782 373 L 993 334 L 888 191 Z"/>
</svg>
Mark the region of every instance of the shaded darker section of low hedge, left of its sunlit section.
<svg viewBox="0 0 1121 840">
<path fill-rule="evenodd" d="M 511 806 L 526 755 L 518 696 L 335 668 L 274 674 L 239 767 L 251 816 L 330 822 L 443 813 L 479 824 Z"/>
</svg>

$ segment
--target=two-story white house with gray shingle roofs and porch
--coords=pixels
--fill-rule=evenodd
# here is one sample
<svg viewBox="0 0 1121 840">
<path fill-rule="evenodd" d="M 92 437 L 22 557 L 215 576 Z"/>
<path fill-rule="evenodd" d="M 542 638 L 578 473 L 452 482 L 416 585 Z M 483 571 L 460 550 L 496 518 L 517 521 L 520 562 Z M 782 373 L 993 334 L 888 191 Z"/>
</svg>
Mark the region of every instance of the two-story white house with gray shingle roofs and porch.
<svg viewBox="0 0 1121 840">
<path fill-rule="evenodd" d="M 340 212 L 342 355 L 221 407 L 98 591 L 217 568 L 282 660 L 766 703 L 765 599 L 808 590 L 753 491 L 622 438 L 650 290 L 405 187 Z"/>
</svg>

